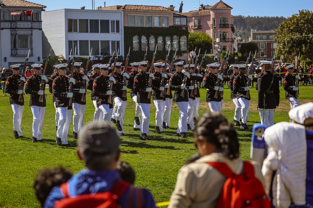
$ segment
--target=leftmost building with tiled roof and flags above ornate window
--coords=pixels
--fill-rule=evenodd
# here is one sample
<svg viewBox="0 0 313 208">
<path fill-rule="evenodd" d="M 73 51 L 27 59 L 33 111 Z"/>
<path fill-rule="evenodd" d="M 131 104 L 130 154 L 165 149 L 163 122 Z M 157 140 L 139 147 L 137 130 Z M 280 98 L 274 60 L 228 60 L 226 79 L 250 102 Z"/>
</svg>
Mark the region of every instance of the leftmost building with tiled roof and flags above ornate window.
<svg viewBox="0 0 313 208">
<path fill-rule="evenodd" d="M 41 11 L 46 6 L 23 0 L 3 0 L 1 5 L 0 65 L 11 70 L 10 65 L 23 64 L 29 53 L 28 65 L 42 62 Z M 19 16 L 11 12 L 22 11 Z M 24 16 L 24 11 L 32 12 Z"/>
</svg>

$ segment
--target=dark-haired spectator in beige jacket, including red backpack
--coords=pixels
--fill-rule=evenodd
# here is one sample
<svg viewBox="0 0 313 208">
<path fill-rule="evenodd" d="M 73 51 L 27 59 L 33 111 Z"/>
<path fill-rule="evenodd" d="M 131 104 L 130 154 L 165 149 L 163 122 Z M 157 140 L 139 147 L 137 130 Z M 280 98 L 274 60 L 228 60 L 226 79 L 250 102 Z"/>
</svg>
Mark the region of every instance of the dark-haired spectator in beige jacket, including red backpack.
<svg viewBox="0 0 313 208">
<path fill-rule="evenodd" d="M 203 114 L 194 136 L 202 157 L 180 169 L 168 208 L 270 207 L 260 164 L 239 159 L 237 132 L 222 114 Z"/>
</svg>

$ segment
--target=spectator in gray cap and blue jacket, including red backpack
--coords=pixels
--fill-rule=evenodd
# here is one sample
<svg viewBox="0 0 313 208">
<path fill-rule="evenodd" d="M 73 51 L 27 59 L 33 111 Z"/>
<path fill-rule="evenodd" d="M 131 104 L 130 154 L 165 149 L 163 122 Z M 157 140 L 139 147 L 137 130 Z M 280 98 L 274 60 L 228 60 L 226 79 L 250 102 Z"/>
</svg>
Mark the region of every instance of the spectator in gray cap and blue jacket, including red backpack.
<svg viewBox="0 0 313 208">
<path fill-rule="evenodd" d="M 65 207 L 145 207 L 155 208 L 151 193 L 121 180 L 116 163 L 120 157 L 120 138 L 112 125 L 89 123 L 80 133 L 78 157 L 86 169 L 69 181 L 54 187 L 45 208 Z"/>
</svg>

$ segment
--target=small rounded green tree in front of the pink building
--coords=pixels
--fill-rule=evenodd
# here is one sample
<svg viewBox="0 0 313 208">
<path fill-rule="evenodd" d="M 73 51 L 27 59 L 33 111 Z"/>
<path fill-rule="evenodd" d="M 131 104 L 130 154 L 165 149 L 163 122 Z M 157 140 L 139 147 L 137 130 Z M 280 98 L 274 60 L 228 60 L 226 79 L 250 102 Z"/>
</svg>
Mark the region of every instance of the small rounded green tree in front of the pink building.
<svg viewBox="0 0 313 208">
<path fill-rule="evenodd" d="M 197 51 L 201 48 L 200 52 L 207 50 L 207 53 L 210 53 L 212 49 L 212 38 L 202 31 L 190 32 L 188 38 L 188 50 L 192 51 L 195 47 L 197 47 Z"/>
</svg>

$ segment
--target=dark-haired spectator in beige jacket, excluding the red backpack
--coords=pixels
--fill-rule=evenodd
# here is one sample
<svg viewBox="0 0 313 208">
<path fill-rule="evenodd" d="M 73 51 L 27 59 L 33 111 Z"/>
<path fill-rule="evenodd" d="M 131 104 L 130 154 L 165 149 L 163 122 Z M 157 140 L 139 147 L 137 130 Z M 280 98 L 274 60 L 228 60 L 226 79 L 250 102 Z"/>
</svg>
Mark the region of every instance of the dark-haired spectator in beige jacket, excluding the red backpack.
<svg viewBox="0 0 313 208">
<path fill-rule="evenodd" d="M 238 135 L 228 120 L 218 112 L 203 114 L 194 130 L 200 158 L 183 166 L 177 176 L 168 208 L 215 207 L 226 177 L 207 162 L 223 162 L 235 173 L 243 171 L 239 159 Z M 264 187 L 260 165 L 254 165 L 255 177 Z"/>
</svg>

